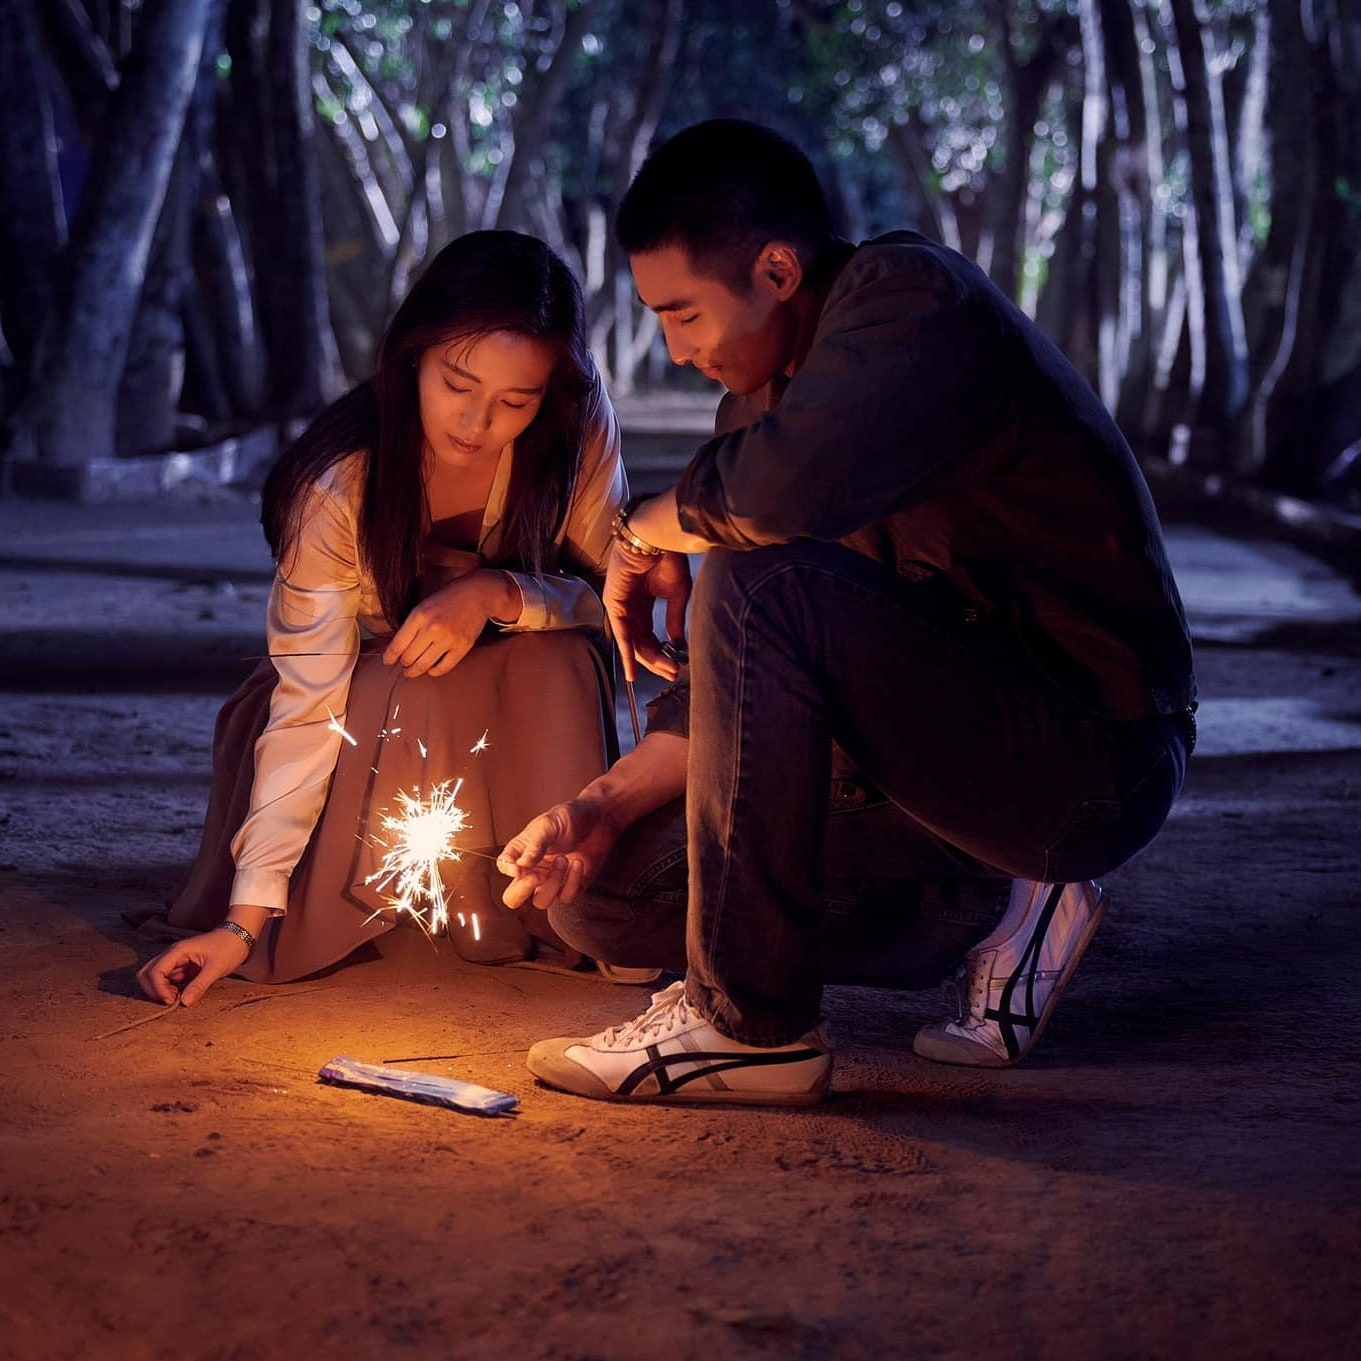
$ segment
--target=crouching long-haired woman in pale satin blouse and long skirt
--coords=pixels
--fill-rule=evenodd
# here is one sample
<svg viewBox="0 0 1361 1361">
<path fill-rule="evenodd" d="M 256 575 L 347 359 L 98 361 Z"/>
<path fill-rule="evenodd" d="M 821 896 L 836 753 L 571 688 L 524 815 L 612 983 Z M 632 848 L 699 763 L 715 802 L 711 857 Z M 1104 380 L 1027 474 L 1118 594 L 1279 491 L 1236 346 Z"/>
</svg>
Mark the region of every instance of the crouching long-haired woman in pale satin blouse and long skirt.
<svg viewBox="0 0 1361 1361">
<path fill-rule="evenodd" d="M 219 715 L 197 860 L 146 921 L 188 938 L 148 996 L 287 981 L 391 930 L 384 819 L 460 778 L 453 945 L 532 954 L 548 928 L 501 906 L 490 856 L 608 764 L 595 587 L 626 494 L 570 271 L 519 233 L 453 241 L 265 485 L 269 659 Z"/>
</svg>

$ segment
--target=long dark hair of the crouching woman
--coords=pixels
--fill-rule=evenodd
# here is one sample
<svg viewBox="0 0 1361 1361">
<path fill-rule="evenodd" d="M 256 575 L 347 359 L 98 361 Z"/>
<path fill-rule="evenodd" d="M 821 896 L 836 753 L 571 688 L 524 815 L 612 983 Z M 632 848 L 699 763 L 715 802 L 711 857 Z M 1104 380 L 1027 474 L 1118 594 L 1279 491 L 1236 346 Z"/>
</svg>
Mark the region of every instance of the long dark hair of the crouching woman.
<svg viewBox="0 0 1361 1361">
<path fill-rule="evenodd" d="M 382 612 L 399 623 L 414 604 L 426 531 L 421 355 L 452 339 L 510 331 L 551 346 L 557 365 L 539 411 L 516 438 L 501 566 L 542 572 L 568 513 L 581 463 L 595 367 L 572 271 L 519 231 L 474 231 L 430 261 L 397 308 L 372 378 L 333 401 L 274 465 L 260 520 L 275 558 L 294 542 L 308 489 L 347 453 L 366 450 L 359 551 Z"/>
</svg>

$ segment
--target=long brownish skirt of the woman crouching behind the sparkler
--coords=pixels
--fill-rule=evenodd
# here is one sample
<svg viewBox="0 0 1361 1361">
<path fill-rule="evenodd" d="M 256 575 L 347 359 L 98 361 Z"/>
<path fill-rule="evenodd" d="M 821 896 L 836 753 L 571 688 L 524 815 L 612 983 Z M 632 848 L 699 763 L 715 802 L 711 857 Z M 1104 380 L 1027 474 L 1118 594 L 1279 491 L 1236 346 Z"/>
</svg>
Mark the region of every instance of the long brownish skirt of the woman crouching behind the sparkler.
<svg viewBox="0 0 1361 1361">
<path fill-rule="evenodd" d="M 381 644 L 378 645 L 381 648 Z M 193 868 L 165 913 L 136 924 L 154 935 L 210 931 L 227 913 L 235 866 L 231 838 L 255 777 L 255 743 L 278 680 L 263 663 L 223 705 L 212 746 L 212 787 Z M 483 964 L 561 947 L 543 913 L 501 904 L 493 859 L 535 814 L 574 795 L 608 765 L 612 704 L 602 653 L 587 633 L 516 633 L 479 642 L 444 676 L 406 679 L 378 648 L 361 653 L 346 731 L 325 807 L 293 872 L 289 911 L 272 919 L 238 970 L 256 983 L 289 983 L 343 960 L 391 931 L 382 859 L 393 842 L 382 819 L 399 795 L 427 799 L 442 781 L 467 826 L 457 860 L 441 862 L 449 943 Z M 569 962 L 572 962 L 569 957 Z"/>
</svg>

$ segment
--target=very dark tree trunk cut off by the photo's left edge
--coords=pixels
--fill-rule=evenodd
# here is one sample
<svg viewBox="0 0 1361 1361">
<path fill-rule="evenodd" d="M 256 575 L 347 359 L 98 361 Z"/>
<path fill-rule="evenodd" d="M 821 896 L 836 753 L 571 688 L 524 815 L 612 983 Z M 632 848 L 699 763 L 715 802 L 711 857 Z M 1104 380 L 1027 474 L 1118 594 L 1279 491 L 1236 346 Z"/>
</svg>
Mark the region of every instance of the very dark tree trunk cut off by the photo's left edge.
<svg viewBox="0 0 1361 1361">
<path fill-rule="evenodd" d="M 0 323 L 23 392 L 67 244 L 34 0 L 0 0 Z M 3 408 L 0 408 L 3 410 Z"/>
</svg>

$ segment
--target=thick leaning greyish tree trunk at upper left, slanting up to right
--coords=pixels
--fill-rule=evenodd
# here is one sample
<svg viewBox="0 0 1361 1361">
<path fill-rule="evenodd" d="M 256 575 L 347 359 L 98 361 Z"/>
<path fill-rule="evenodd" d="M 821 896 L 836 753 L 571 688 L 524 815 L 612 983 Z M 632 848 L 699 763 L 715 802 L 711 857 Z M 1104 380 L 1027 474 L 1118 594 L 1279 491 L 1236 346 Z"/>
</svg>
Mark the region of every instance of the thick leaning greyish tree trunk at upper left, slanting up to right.
<svg viewBox="0 0 1361 1361">
<path fill-rule="evenodd" d="M 118 382 L 203 49 L 208 0 L 147 0 L 19 412 L 20 456 L 112 457 Z"/>
</svg>

